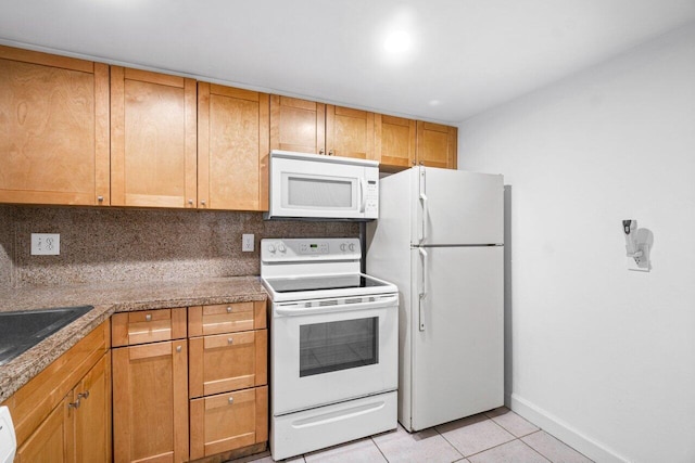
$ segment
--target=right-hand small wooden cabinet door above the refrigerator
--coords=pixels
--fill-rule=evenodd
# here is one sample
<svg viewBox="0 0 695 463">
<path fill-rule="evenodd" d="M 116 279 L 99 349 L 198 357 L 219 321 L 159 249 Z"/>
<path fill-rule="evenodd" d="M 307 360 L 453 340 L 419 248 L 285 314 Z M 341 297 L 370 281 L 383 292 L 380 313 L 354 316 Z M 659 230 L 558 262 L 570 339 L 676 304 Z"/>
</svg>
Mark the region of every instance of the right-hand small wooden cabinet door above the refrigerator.
<svg viewBox="0 0 695 463">
<path fill-rule="evenodd" d="M 456 127 L 417 121 L 417 163 L 428 167 L 455 169 L 457 164 Z"/>
</svg>

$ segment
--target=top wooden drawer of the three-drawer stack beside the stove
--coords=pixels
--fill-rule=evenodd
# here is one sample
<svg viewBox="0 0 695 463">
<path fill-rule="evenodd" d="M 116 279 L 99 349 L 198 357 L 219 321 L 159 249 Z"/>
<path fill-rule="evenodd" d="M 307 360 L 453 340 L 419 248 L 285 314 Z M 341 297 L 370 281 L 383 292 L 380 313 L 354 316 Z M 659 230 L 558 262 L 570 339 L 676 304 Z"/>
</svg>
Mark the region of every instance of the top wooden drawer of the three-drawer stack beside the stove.
<svg viewBox="0 0 695 463">
<path fill-rule="evenodd" d="M 233 333 L 266 327 L 265 300 L 188 308 L 188 335 Z"/>
</svg>

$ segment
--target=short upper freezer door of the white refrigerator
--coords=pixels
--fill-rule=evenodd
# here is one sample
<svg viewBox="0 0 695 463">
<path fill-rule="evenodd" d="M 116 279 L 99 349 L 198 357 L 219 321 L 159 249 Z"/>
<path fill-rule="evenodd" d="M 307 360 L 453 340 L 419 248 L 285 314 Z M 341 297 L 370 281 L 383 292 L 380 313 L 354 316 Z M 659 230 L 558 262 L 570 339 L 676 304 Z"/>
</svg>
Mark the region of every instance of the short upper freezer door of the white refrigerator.
<svg viewBox="0 0 695 463">
<path fill-rule="evenodd" d="M 500 175 L 410 169 L 410 244 L 502 244 L 504 181 Z"/>
</svg>

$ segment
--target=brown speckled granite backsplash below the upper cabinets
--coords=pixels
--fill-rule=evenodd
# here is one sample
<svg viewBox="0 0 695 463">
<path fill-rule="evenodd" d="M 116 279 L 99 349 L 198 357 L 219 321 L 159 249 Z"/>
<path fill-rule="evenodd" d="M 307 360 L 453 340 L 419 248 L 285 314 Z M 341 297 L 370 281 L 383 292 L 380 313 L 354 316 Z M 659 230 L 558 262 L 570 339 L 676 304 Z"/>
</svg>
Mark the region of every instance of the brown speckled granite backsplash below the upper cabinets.
<svg viewBox="0 0 695 463">
<path fill-rule="evenodd" d="M 60 233 L 60 256 L 31 256 L 31 233 Z M 241 252 L 242 233 L 254 252 Z M 254 275 L 262 237 L 358 235 L 354 222 L 261 213 L 0 205 L 0 288 Z"/>
</svg>

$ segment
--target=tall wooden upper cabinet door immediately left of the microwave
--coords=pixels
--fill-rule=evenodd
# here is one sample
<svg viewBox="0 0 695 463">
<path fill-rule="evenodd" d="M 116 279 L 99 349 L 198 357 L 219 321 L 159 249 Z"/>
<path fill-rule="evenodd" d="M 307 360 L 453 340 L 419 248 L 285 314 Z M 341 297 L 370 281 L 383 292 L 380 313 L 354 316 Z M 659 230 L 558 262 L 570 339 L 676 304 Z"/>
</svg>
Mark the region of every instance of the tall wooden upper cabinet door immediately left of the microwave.
<svg viewBox="0 0 695 463">
<path fill-rule="evenodd" d="M 269 95 L 198 83 L 198 198 L 207 209 L 268 210 Z"/>
</svg>

